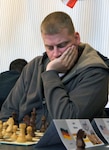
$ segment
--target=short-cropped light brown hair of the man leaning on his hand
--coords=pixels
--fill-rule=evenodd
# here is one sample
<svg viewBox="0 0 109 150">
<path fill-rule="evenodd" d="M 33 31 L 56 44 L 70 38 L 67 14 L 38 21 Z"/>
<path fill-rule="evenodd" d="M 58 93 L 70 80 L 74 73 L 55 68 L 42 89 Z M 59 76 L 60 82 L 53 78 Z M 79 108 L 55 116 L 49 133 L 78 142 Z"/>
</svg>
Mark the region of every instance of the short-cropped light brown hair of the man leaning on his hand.
<svg viewBox="0 0 109 150">
<path fill-rule="evenodd" d="M 65 28 L 68 30 L 69 34 L 73 34 L 75 32 L 71 17 L 61 11 L 56 11 L 49 14 L 41 23 L 42 34 L 57 34 Z"/>
</svg>

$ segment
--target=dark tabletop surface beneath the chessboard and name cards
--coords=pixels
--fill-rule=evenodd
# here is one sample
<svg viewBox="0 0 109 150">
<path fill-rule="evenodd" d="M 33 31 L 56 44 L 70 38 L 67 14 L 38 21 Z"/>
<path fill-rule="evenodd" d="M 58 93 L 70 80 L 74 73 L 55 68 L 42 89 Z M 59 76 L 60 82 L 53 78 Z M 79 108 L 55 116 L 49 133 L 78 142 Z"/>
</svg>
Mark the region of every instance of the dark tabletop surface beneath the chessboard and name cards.
<svg viewBox="0 0 109 150">
<path fill-rule="evenodd" d="M 87 148 L 86 150 L 108 150 L 106 145 L 103 146 L 96 146 Z M 8 144 L 1 144 L 0 150 L 66 150 L 64 145 L 55 145 L 49 147 L 42 147 L 42 148 L 35 148 L 34 146 L 17 146 L 17 145 L 8 145 Z"/>
</svg>

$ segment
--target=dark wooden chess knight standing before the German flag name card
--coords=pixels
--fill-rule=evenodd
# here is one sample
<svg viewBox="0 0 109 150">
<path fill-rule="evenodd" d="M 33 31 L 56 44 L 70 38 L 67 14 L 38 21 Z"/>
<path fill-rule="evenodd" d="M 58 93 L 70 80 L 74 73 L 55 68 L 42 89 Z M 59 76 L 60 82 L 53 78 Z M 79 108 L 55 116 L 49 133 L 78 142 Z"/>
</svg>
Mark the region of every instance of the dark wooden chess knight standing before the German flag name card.
<svg viewBox="0 0 109 150">
<path fill-rule="evenodd" d="M 77 132 L 77 137 L 76 137 L 77 150 L 84 150 L 85 149 L 85 142 L 83 140 L 85 137 L 86 137 L 85 131 L 80 129 Z"/>
</svg>

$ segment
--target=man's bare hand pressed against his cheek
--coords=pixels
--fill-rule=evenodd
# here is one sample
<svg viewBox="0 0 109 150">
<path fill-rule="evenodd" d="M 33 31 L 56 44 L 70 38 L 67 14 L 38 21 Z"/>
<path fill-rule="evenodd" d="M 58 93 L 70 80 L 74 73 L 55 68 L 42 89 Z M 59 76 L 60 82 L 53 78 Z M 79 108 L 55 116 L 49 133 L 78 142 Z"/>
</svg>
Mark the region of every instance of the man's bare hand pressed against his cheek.
<svg viewBox="0 0 109 150">
<path fill-rule="evenodd" d="M 48 70 L 56 70 L 59 73 L 65 73 L 75 64 L 78 58 L 78 49 L 75 46 L 68 48 L 59 58 L 49 62 L 46 68 Z"/>
</svg>

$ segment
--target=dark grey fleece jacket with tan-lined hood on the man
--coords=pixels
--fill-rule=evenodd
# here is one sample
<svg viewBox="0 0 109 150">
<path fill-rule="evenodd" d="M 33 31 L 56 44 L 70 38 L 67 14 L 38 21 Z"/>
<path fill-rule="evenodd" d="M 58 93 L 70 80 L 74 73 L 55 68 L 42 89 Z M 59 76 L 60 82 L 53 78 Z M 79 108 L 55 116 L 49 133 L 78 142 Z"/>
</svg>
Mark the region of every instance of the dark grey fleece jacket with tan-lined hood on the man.
<svg viewBox="0 0 109 150">
<path fill-rule="evenodd" d="M 81 55 L 75 66 L 62 78 L 54 70 L 46 71 L 46 54 L 34 58 L 24 68 L 13 90 L 2 106 L 0 119 L 12 112 L 18 122 L 36 108 L 36 127 L 41 117 L 51 119 L 104 117 L 108 101 L 108 66 L 90 45 L 81 43 Z"/>
</svg>

